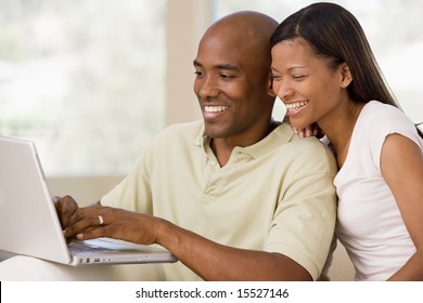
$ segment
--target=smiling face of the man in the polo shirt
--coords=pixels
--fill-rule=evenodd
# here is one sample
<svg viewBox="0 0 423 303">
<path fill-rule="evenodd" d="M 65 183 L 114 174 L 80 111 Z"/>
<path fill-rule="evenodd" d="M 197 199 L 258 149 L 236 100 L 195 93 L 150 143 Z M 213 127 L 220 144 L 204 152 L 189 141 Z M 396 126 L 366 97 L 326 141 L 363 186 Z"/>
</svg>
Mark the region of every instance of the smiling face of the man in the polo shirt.
<svg viewBox="0 0 423 303">
<path fill-rule="evenodd" d="M 269 69 L 247 41 L 207 35 L 200 43 L 194 67 L 194 92 L 207 135 L 242 144 L 257 123 L 269 123 Z"/>
</svg>

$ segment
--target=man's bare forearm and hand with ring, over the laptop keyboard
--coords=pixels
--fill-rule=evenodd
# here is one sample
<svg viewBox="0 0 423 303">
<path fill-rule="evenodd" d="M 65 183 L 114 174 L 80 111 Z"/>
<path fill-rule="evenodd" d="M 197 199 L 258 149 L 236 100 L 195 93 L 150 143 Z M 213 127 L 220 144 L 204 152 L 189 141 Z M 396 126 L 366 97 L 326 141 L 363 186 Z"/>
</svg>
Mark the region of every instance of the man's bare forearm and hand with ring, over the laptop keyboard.
<svg viewBox="0 0 423 303">
<path fill-rule="evenodd" d="M 101 226 L 98 215 L 104 219 Z M 81 208 L 74 219 L 77 222 L 66 229 L 65 237 L 158 243 L 205 280 L 311 280 L 304 267 L 280 253 L 221 246 L 155 216 L 89 207 Z"/>
</svg>

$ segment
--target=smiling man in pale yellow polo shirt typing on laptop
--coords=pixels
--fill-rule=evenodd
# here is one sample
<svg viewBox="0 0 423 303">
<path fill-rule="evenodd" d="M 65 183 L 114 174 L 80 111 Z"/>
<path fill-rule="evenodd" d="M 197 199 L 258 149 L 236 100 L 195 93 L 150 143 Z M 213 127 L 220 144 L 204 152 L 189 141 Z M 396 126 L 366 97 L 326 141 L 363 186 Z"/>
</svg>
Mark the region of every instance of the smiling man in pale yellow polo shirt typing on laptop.
<svg viewBox="0 0 423 303">
<path fill-rule="evenodd" d="M 203 121 L 162 132 L 101 206 L 60 199 L 65 237 L 158 243 L 179 260 L 164 264 L 169 280 L 318 279 L 336 167 L 316 137 L 271 119 L 277 26 L 255 12 L 211 25 L 194 60 Z"/>
</svg>

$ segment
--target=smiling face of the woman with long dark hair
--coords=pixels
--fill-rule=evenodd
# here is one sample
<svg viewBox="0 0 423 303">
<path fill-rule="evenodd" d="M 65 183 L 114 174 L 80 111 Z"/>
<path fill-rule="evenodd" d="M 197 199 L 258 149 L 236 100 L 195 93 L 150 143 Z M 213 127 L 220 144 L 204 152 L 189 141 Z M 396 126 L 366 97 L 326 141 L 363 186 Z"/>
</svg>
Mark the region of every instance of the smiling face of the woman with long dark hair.
<svg viewBox="0 0 423 303">
<path fill-rule="evenodd" d="M 348 101 L 346 87 L 351 81 L 345 64 L 330 68 L 329 60 L 318 57 L 304 39 L 275 44 L 272 55 L 273 91 L 286 106 L 295 129 L 324 119 Z M 349 78 L 349 80 L 347 79 Z"/>
</svg>

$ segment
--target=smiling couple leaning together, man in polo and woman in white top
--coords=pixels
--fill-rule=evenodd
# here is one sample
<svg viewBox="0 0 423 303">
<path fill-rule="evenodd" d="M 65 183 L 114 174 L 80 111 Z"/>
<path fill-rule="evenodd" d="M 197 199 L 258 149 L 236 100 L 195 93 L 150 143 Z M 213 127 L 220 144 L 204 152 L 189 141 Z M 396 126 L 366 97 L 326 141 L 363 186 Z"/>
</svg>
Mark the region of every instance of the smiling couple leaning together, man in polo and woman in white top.
<svg viewBox="0 0 423 303">
<path fill-rule="evenodd" d="M 423 141 L 348 11 L 229 15 L 194 68 L 203 120 L 163 131 L 94 206 L 60 198 L 68 240 L 158 243 L 169 280 L 317 280 L 336 230 L 358 280 L 423 279 Z M 329 147 L 292 130 L 313 122 Z"/>
</svg>

